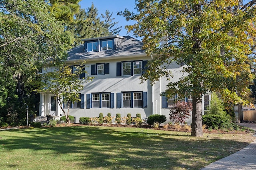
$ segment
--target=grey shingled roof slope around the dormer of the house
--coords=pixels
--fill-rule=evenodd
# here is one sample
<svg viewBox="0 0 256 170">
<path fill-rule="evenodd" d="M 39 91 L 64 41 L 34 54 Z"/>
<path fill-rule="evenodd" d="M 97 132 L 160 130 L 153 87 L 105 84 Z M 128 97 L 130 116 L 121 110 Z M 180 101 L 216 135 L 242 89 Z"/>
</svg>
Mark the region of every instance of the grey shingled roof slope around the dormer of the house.
<svg viewBox="0 0 256 170">
<path fill-rule="evenodd" d="M 122 39 L 122 42 L 114 50 L 85 53 L 84 44 L 82 44 L 68 51 L 67 61 L 146 55 L 145 51 L 142 50 L 142 46 L 142 41 L 139 41 L 138 39 L 132 38 L 130 36 L 125 36 L 124 39 Z"/>
</svg>

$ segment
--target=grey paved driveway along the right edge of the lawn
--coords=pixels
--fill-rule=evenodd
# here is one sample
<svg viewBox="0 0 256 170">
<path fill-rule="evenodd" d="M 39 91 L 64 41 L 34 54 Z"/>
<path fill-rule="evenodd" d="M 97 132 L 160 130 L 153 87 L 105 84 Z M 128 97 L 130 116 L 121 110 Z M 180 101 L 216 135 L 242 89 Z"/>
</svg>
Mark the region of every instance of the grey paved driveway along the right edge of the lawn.
<svg viewBox="0 0 256 170">
<path fill-rule="evenodd" d="M 239 123 L 256 132 L 256 123 Z M 256 170 L 256 140 L 244 149 L 217 160 L 201 170 Z"/>
</svg>

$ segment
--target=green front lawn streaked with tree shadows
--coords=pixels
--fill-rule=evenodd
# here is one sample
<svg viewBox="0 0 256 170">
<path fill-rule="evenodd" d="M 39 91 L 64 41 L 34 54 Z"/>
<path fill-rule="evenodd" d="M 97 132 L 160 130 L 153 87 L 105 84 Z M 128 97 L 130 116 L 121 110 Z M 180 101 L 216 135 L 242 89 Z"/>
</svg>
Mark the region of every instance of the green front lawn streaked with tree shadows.
<svg viewBox="0 0 256 170">
<path fill-rule="evenodd" d="M 72 126 L 0 131 L 1 170 L 195 169 L 228 156 L 252 134 Z"/>
</svg>

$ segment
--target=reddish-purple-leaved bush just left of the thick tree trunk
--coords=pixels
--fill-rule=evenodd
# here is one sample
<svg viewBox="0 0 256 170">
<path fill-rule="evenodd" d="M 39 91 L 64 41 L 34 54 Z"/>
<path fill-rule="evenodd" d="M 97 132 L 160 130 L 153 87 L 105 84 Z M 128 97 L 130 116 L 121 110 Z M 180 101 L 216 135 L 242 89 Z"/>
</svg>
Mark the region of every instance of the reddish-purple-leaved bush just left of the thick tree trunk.
<svg viewBox="0 0 256 170">
<path fill-rule="evenodd" d="M 186 119 L 190 117 L 191 111 L 191 103 L 177 102 L 174 107 L 170 108 L 170 121 L 174 121 L 175 123 L 185 123 Z"/>
</svg>

